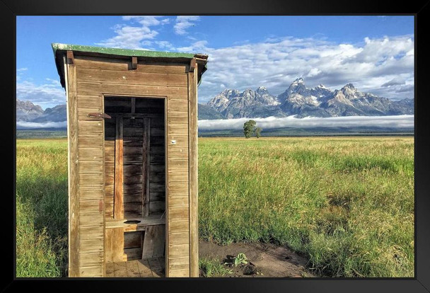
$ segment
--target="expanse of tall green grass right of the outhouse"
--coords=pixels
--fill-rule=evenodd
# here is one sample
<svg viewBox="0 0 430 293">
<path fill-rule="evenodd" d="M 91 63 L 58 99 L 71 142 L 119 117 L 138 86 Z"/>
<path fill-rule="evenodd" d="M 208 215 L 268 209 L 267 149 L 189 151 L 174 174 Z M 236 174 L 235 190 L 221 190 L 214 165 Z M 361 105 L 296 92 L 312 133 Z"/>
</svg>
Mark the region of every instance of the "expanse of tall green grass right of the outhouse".
<svg viewBox="0 0 430 293">
<path fill-rule="evenodd" d="M 199 234 L 306 253 L 332 277 L 413 277 L 412 137 L 199 139 Z"/>
</svg>

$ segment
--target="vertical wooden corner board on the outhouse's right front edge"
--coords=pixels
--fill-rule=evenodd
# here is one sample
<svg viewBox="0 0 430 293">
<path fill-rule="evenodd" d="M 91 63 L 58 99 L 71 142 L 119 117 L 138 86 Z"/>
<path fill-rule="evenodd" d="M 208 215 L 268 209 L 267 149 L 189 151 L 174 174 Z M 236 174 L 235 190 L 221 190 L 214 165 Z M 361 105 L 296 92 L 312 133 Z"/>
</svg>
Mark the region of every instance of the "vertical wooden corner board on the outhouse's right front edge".
<svg viewBox="0 0 430 293">
<path fill-rule="evenodd" d="M 199 277 L 199 222 L 197 208 L 197 67 L 188 74 L 188 108 L 190 139 L 190 277 Z"/>
</svg>

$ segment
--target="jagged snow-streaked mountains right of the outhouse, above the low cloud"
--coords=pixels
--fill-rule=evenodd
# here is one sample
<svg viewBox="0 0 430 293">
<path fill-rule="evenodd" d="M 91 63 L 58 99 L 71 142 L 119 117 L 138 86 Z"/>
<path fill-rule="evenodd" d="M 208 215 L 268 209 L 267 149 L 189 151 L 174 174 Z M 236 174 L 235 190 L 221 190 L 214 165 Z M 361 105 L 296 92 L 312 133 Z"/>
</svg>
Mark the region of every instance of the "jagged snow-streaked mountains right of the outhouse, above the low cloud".
<svg viewBox="0 0 430 293">
<path fill-rule="evenodd" d="M 414 100 L 393 101 L 373 93 L 364 93 L 347 84 L 332 91 L 323 84 L 307 88 L 298 78 L 278 96 L 267 88 L 247 89 L 240 93 L 234 89 L 224 90 L 207 104 L 227 119 L 239 117 L 336 117 L 356 115 L 402 115 L 414 113 Z"/>
</svg>

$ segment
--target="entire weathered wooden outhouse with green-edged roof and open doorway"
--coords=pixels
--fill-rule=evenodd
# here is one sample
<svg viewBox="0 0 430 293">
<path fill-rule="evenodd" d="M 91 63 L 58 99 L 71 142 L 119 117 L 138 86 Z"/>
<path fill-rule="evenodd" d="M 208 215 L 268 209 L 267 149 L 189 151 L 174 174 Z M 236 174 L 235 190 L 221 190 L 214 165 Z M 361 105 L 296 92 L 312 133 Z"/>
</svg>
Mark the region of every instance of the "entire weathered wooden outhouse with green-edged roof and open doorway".
<svg viewBox="0 0 430 293">
<path fill-rule="evenodd" d="M 52 44 L 67 96 L 70 277 L 198 277 L 207 55 Z"/>
</svg>

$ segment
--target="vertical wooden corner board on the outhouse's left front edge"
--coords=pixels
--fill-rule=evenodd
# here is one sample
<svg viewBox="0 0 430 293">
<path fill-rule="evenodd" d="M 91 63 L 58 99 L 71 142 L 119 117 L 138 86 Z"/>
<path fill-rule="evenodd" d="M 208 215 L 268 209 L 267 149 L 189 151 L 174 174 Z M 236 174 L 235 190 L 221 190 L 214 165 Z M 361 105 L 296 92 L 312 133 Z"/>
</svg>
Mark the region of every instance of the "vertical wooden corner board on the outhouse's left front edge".
<svg viewBox="0 0 430 293">
<path fill-rule="evenodd" d="M 66 64 L 68 193 L 69 193 L 69 277 L 79 277 L 79 161 L 76 67 Z"/>
</svg>

